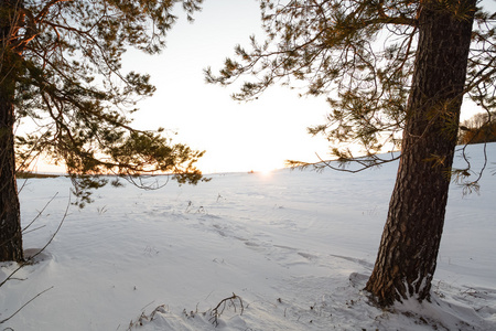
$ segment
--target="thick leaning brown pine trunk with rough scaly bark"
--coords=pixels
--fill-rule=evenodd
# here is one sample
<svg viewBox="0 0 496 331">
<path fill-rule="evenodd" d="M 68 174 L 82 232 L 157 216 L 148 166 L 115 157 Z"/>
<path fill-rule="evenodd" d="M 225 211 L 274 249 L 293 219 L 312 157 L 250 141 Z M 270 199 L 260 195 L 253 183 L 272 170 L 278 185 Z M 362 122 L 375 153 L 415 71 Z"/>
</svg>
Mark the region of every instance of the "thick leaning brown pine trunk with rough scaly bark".
<svg viewBox="0 0 496 331">
<path fill-rule="evenodd" d="M 381 306 L 430 298 L 456 146 L 475 0 L 421 2 L 402 156 L 366 290 Z M 455 13 L 455 8 L 461 6 Z M 468 9 L 468 10 L 467 10 Z"/>
</svg>

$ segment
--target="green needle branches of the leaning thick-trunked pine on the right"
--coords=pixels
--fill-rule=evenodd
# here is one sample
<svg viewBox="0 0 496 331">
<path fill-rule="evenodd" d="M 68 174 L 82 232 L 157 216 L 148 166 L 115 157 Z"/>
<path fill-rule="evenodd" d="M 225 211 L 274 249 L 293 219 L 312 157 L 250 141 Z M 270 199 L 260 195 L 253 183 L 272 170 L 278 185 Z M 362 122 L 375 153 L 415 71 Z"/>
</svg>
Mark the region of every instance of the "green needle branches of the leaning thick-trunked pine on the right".
<svg viewBox="0 0 496 331">
<path fill-rule="evenodd" d="M 464 3 L 440 1 L 439 7 L 464 19 L 468 14 Z M 309 134 L 323 135 L 330 141 L 331 158 L 342 164 L 357 156 L 365 157 L 359 159 L 364 169 L 381 164 L 395 158 L 381 159 L 377 152 L 401 147 L 420 4 L 392 0 L 260 0 L 266 39 L 252 36 L 249 47 L 237 45 L 235 56 L 227 58 L 217 73 L 205 70 L 206 81 L 230 85 L 242 76 L 245 82 L 233 95 L 238 100 L 255 99 L 274 84 L 290 85 L 301 95 L 324 96 L 330 105 L 326 121 L 310 127 Z M 482 8 L 475 13 L 465 89 L 467 97 L 489 110 L 496 108 L 495 19 L 496 13 Z M 448 131 L 459 129 L 457 119 L 446 122 L 452 124 Z M 360 146 L 359 151 L 352 149 L 356 146 Z"/>
</svg>

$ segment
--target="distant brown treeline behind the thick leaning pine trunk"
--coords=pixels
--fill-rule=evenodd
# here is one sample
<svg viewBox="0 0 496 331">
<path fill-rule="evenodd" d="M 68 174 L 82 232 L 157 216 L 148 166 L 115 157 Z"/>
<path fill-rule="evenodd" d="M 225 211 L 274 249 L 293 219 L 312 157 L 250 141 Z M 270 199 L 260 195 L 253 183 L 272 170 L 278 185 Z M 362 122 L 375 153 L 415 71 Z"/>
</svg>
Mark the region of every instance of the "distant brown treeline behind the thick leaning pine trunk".
<svg viewBox="0 0 496 331">
<path fill-rule="evenodd" d="M 493 141 L 496 141 L 496 113 L 475 114 L 460 126 L 460 145 Z"/>
</svg>

